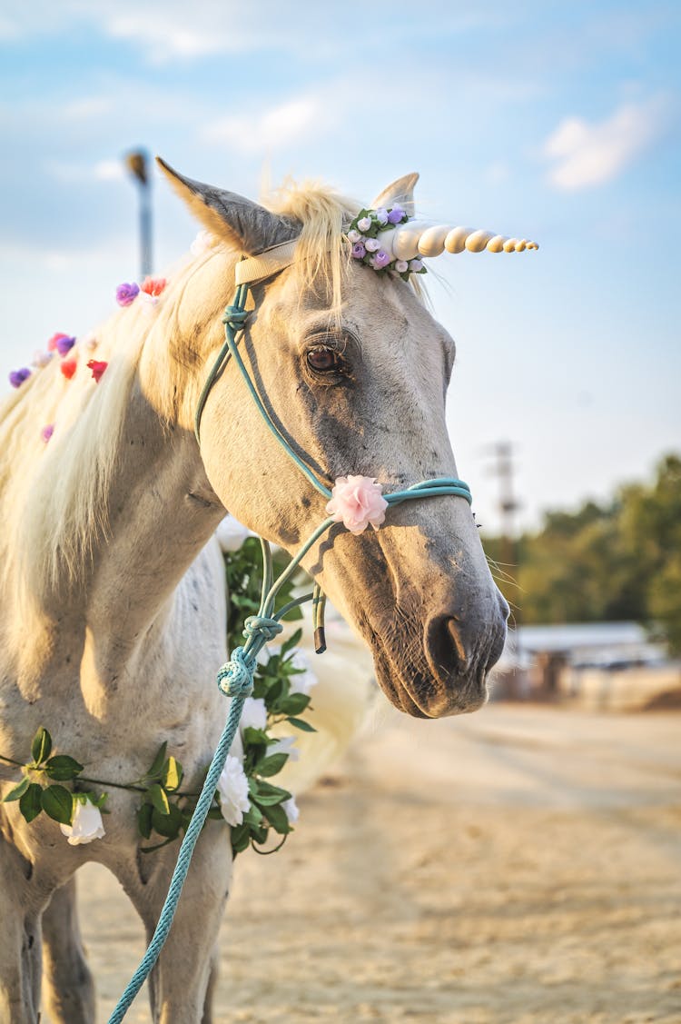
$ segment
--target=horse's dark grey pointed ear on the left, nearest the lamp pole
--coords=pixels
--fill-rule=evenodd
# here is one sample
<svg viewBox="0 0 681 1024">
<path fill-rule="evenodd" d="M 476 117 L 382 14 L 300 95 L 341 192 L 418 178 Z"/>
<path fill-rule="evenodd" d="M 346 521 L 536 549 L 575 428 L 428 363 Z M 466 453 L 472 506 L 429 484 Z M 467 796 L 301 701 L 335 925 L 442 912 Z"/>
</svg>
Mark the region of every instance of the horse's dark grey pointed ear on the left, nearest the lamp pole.
<svg viewBox="0 0 681 1024">
<path fill-rule="evenodd" d="M 185 178 L 160 157 L 156 161 L 195 217 L 209 231 L 249 256 L 289 242 L 300 234 L 300 224 L 236 193 Z"/>
</svg>

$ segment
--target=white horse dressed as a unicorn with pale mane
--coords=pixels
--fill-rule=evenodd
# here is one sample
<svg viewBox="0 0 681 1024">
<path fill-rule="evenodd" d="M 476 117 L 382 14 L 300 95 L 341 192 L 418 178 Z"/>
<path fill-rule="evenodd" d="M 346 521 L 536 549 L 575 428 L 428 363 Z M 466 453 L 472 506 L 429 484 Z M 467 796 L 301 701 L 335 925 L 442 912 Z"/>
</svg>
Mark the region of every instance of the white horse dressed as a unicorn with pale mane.
<svg viewBox="0 0 681 1024">
<path fill-rule="evenodd" d="M 223 340 L 242 254 L 299 238 L 291 265 L 252 289 L 242 349 L 268 411 L 314 470 L 377 477 L 394 490 L 456 476 L 444 421 L 454 343 L 415 291 L 346 258 L 357 207 L 292 188 L 275 211 L 171 174 L 216 244 L 178 269 L 157 306 L 134 303 L 8 399 L 0 420 L 0 754 L 23 761 L 44 724 L 87 773 L 138 778 L 162 740 L 198 783 L 226 716 L 225 598 L 212 539 L 228 509 L 294 551 L 324 498 L 268 433 L 229 365 L 193 418 Z M 374 203 L 411 208 L 416 175 Z M 92 355 L 109 367 L 100 383 Z M 54 425 L 48 443 L 41 437 Z M 370 644 L 388 698 L 424 718 L 472 711 L 504 641 L 508 608 L 460 498 L 389 510 L 378 531 L 335 528 L 306 559 Z M 19 776 L 5 771 L 16 783 Z M 8 786 L 5 786 L 5 793 Z M 139 854 L 135 795 L 112 790 L 107 835 L 69 846 L 45 814 L 0 806 L 0 1020 L 92 1021 L 74 874 L 110 868 L 147 933 L 176 855 Z M 152 976 L 155 1021 L 210 1021 L 214 943 L 227 897 L 227 827 L 210 822 Z"/>
</svg>

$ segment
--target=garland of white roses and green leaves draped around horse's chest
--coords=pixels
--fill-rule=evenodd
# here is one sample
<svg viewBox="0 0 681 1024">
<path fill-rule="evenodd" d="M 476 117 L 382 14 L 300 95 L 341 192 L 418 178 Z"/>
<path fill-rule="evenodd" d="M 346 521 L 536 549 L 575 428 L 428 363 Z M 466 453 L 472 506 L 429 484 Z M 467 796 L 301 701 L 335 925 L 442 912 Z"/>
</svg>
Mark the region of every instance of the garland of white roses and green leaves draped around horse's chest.
<svg viewBox="0 0 681 1024">
<path fill-rule="evenodd" d="M 227 644 L 233 646 L 242 633 L 248 615 L 257 611 L 261 589 L 261 570 L 258 569 L 258 542 L 247 531 L 231 532 L 230 543 L 224 552 L 229 594 L 229 630 Z M 235 539 L 236 538 L 236 539 Z M 275 568 L 281 571 L 288 564 L 288 555 L 278 552 Z M 295 584 L 289 582 L 278 596 L 276 607 L 292 599 Z M 297 617 L 302 616 L 296 609 Z M 231 825 L 231 848 L 236 856 L 249 845 L 258 853 L 273 853 L 283 846 L 293 824 L 298 819 L 298 808 L 293 795 L 269 779 L 279 774 L 286 762 L 297 760 L 295 735 L 280 737 L 270 731 L 287 724 L 292 729 L 314 732 L 303 715 L 310 705 L 309 690 L 316 682 L 309 671 L 304 654 L 296 645 L 302 635 L 297 630 L 282 646 L 258 664 L 253 696 L 248 697 L 242 715 L 243 761 L 228 756 L 218 781 L 208 817 L 223 818 Z M 24 778 L 4 797 L 3 803 L 18 801 L 18 808 L 26 821 L 33 821 L 39 814 L 59 824 L 61 833 L 72 846 L 91 843 L 104 835 L 102 814 L 108 794 L 99 792 L 109 787 L 129 790 L 140 795 L 137 809 L 137 829 L 142 840 L 151 845 L 140 845 L 143 853 L 151 853 L 172 843 L 186 830 L 199 793 L 180 788 L 182 765 L 167 754 L 167 743 L 162 743 L 148 770 L 133 782 L 112 782 L 83 774 L 84 766 L 68 754 L 52 754 L 52 737 L 41 726 L 31 743 L 31 758 L 15 761 L 0 755 L 0 761 L 22 769 Z M 61 784 L 71 782 L 73 788 Z M 96 788 L 91 788 L 95 786 Z M 273 849 L 263 849 L 270 829 L 281 839 Z"/>
</svg>

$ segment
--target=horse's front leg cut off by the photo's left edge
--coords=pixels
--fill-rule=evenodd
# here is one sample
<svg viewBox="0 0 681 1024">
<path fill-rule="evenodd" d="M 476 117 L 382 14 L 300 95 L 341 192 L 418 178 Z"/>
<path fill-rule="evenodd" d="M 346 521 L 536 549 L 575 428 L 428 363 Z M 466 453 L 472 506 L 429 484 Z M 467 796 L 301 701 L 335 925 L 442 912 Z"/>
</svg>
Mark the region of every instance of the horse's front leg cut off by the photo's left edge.
<svg viewBox="0 0 681 1024">
<path fill-rule="evenodd" d="M 40 910 L 31 907 L 32 865 L 0 841 L 0 1021 L 36 1024 L 40 1007 Z"/>
</svg>

